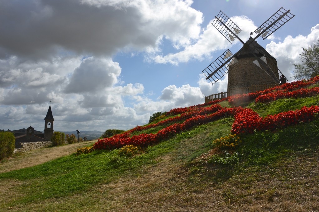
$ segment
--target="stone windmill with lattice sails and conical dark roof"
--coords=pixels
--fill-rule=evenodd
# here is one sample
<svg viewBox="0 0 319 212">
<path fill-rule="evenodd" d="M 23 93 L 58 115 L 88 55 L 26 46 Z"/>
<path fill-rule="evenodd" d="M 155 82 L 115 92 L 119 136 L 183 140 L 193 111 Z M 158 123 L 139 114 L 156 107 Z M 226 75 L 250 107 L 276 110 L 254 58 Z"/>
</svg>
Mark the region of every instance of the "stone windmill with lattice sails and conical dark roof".
<svg viewBox="0 0 319 212">
<path fill-rule="evenodd" d="M 212 25 L 228 42 L 232 44 L 237 38 L 243 47 L 235 54 L 227 49 L 206 67 L 202 71 L 206 80 L 209 79 L 214 84 L 228 73 L 228 95 L 235 94 L 231 92 L 235 88 L 238 90 L 257 84 L 279 83 L 279 73 L 282 73 L 277 67 L 276 59 L 255 40 L 259 37 L 266 39 L 293 17 L 290 10 L 281 7 L 254 31 L 257 34 L 255 38 L 250 37 L 247 42 L 243 42 L 238 37 L 242 30 L 223 11 L 220 11 Z M 250 32 L 250 35 L 252 34 L 253 32 Z"/>
</svg>

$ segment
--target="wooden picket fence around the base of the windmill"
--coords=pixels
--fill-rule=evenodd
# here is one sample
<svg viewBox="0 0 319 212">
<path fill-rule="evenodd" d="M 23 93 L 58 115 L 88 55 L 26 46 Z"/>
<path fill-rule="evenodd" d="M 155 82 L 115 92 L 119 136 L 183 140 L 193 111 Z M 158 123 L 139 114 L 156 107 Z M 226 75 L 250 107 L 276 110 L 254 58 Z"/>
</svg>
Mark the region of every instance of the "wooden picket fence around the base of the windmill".
<svg viewBox="0 0 319 212">
<path fill-rule="evenodd" d="M 230 89 L 227 90 L 227 92 L 221 92 L 219 94 L 212 94 L 209 96 L 205 96 L 205 103 L 214 101 L 214 100 L 222 100 L 223 98 L 226 98 L 231 95 L 235 94 L 248 94 L 260 90 L 265 90 L 267 88 L 272 88 L 276 85 L 252 85 L 250 87 L 245 87 L 245 88 L 236 88 L 236 89 Z"/>
</svg>

